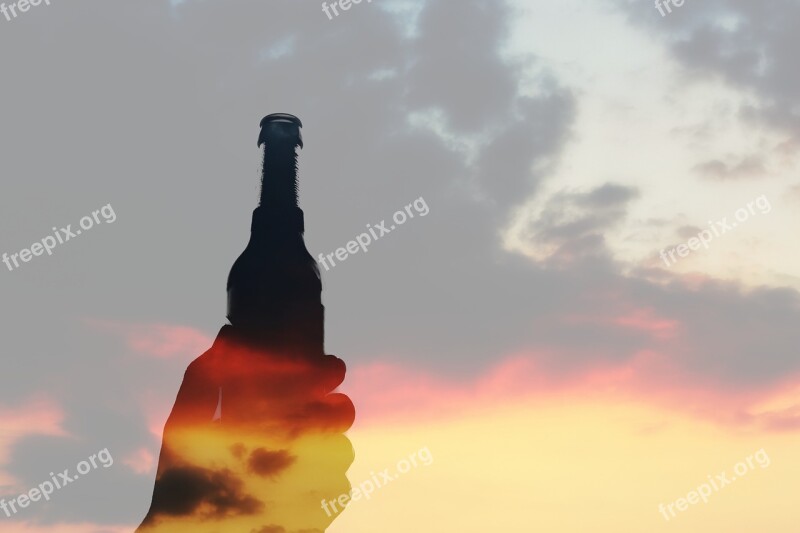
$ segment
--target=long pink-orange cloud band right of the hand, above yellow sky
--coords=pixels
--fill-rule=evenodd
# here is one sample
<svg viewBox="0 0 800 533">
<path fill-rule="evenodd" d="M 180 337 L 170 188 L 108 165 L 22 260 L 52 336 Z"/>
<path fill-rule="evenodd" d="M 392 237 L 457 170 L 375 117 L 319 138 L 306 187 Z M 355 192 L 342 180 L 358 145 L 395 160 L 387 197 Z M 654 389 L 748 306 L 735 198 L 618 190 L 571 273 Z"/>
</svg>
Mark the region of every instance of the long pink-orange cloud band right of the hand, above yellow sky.
<svg viewBox="0 0 800 533">
<path fill-rule="evenodd" d="M 573 373 L 549 371 L 547 361 L 553 357 L 544 353 L 515 355 L 483 375 L 461 380 L 398 364 L 374 363 L 351 368 L 343 392 L 356 405 L 357 424 L 429 420 L 474 409 L 563 399 L 649 404 L 719 424 L 765 431 L 800 429 L 800 376 L 788 378 L 781 386 L 743 389 L 703 382 L 655 350 L 641 350 L 626 361 L 595 363 Z"/>
</svg>

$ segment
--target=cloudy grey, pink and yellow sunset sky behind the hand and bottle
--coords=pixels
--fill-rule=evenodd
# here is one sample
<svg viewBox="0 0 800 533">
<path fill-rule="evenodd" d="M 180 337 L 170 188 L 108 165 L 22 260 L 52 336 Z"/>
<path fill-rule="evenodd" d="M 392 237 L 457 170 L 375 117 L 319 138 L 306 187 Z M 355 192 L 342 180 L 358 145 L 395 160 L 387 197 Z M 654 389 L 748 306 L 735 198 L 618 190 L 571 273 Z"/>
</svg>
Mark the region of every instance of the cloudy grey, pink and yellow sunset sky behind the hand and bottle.
<svg viewBox="0 0 800 533">
<path fill-rule="evenodd" d="M 0 253 L 54 243 L 0 263 L 0 498 L 114 459 L 0 529 L 144 516 L 225 323 L 258 123 L 289 112 L 311 254 L 395 226 L 322 268 L 348 476 L 395 471 L 329 532 L 796 531 L 800 4 L 670 5 L 0 15 Z"/>
</svg>

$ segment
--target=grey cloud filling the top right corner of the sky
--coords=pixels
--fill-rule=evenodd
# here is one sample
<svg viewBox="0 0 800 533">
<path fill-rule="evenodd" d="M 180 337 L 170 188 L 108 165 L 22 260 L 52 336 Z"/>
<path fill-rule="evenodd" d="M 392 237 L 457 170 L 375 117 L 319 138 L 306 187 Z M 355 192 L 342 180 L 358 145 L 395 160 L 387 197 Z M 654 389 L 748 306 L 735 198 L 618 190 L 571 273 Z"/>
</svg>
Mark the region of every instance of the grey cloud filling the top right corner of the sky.
<svg viewBox="0 0 800 533">
<path fill-rule="evenodd" d="M 637 25 L 661 34 L 675 58 L 699 78 L 719 77 L 752 92 L 745 118 L 800 134 L 800 72 L 795 50 L 800 4 L 794 0 L 707 0 L 667 17 L 652 5 L 616 0 Z"/>
</svg>

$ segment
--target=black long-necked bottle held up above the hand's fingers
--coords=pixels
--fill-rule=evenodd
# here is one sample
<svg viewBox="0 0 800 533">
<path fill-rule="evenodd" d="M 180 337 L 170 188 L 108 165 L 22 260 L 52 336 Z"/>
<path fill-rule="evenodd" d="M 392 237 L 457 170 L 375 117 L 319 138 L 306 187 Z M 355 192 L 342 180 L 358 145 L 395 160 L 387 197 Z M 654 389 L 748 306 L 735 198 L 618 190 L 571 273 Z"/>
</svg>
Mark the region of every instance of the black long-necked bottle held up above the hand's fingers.
<svg viewBox="0 0 800 533">
<path fill-rule="evenodd" d="M 300 120 L 273 114 L 261 121 L 265 145 L 261 200 L 250 242 L 228 278 L 228 320 L 276 349 L 324 352 L 322 284 L 303 241 L 298 206 Z"/>
</svg>

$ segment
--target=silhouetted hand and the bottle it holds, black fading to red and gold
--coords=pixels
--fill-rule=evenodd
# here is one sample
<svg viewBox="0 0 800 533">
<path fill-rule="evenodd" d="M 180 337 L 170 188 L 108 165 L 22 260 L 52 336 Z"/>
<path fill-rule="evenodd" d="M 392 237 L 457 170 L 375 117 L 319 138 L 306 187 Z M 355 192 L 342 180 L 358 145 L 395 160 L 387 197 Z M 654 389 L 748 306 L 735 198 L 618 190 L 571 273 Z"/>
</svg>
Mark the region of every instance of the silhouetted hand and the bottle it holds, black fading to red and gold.
<svg viewBox="0 0 800 533">
<path fill-rule="evenodd" d="M 322 533 L 337 515 L 326 503 L 350 490 L 355 409 L 333 392 L 344 362 L 324 350 L 298 204 L 301 127 L 283 113 L 261 121 L 261 198 L 228 277 L 230 324 L 186 370 L 142 533 Z"/>
</svg>

